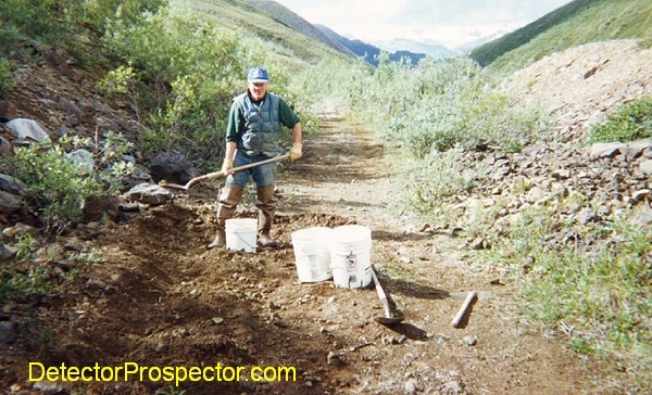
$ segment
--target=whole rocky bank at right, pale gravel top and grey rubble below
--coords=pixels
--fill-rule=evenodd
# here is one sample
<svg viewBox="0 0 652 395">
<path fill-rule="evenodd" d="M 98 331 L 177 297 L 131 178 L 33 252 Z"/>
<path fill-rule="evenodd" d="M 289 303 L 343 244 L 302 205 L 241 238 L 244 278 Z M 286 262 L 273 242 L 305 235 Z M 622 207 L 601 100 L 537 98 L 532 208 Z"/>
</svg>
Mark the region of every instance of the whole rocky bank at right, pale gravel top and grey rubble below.
<svg viewBox="0 0 652 395">
<path fill-rule="evenodd" d="M 556 218 L 560 222 L 579 227 L 611 222 L 634 208 L 632 221 L 652 224 L 652 140 L 584 142 L 589 128 L 607 114 L 652 94 L 652 50 L 641 49 L 632 40 L 572 48 L 514 73 L 500 89 L 522 105 L 547 109 L 554 119 L 554 131 L 548 141 L 516 154 L 497 154 L 490 148 L 469 153 L 467 161 L 488 175 L 488 182 L 467 196 L 455 196 L 463 202 L 459 205 L 461 214 L 472 213 L 478 204 L 491 207 L 499 200 L 505 201 L 496 229 L 500 234 L 516 218 L 514 213 L 574 196 L 598 203 L 591 209 L 578 205 L 562 211 Z M 576 233 L 579 227 L 556 234 L 551 243 L 575 242 L 590 247 L 594 240 L 580 241 Z M 487 243 L 469 242 L 475 247 Z"/>
</svg>

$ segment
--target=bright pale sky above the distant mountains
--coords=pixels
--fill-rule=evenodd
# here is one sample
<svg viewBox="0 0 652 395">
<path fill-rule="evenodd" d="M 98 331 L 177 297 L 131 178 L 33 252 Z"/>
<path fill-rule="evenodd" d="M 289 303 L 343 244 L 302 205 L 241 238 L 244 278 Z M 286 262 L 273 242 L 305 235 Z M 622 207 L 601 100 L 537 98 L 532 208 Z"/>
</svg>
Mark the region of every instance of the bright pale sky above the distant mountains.
<svg viewBox="0 0 652 395">
<path fill-rule="evenodd" d="M 513 31 L 572 0 L 276 0 L 312 24 L 377 44 L 394 38 L 457 48 Z M 379 46 L 380 47 L 380 46 Z"/>
</svg>

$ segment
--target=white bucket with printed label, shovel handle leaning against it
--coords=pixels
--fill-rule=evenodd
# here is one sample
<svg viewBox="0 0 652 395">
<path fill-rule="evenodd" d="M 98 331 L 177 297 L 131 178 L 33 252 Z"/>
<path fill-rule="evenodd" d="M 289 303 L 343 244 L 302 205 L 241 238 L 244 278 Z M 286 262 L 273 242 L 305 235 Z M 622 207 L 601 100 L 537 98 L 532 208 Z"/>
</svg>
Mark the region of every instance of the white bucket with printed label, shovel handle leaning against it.
<svg viewBox="0 0 652 395">
<path fill-rule="evenodd" d="M 372 282 L 372 230 L 360 225 L 333 229 L 330 269 L 339 288 L 362 288 Z"/>
</svg>

